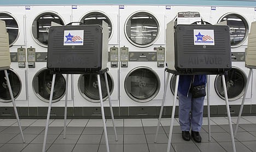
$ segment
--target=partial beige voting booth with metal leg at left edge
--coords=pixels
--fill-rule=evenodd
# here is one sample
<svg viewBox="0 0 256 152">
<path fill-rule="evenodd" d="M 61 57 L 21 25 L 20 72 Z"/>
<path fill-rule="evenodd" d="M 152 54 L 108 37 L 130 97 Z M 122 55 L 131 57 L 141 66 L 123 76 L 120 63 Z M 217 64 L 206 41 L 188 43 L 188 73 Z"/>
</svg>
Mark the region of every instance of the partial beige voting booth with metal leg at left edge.
<svg viewBox="0 0 256 152">
<path fill-rule="evenodd" d="M 20 128 L 22 141 L 25 143 L 24 135 L 22 132 L 21 124 L 20 124 L 19 115 L 18 115 L 16 104 L 15 104 L 14 97 L 13 97 L 13 91 L 11 90 L 10 80 L 8 77 L 9 74 L 8 74 L 7 70 L 9 68 L 10 68 L 9 37 L 8 37 L 8 33 L 6 31 L 5 22 L 0 20 L 0 71 L 2 71 L 2 70 L 4 71 L 5 80 L 6 80 L 9 92 L 10 92 L 10 97 L 11 97 L 11 101 L 13 103 L 14 112 L 15 112 L 16 119 L 18 121 L 18 125 Z"/>
</svg>

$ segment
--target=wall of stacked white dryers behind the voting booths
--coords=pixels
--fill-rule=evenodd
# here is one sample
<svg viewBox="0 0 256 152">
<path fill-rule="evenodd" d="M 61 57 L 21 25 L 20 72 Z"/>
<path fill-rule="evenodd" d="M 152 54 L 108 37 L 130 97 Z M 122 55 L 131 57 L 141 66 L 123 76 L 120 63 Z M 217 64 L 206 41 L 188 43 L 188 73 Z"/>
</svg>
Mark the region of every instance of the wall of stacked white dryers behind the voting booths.
<svg viewBox="0 0 256 152">
<path fill-rule="evenodd" d="M 49 25 L 44 26 L 44 22 L 50 19 L 61 25 L 74 21 L 98 24 L 93 19 L 101 19 L 109 25 L 107 75 L 114 115 L 116 118 L 157 118 L 166 80 L 164 69 L 168 50 L 165 44 L 168 42 L 165 29 L 169 21 L 176 19 L 178 11 L 199 11 L 202 20 L 211 24 L 230 20 L 233 68 L 226 84 L 229 87 L 231 115 L 238 115 L 249 72 L 245 67 L 247 37 L 251 22 L 256 21 L 256 1 L 249 0 L 1 1 L 0 17 L 9 20 L 9 25 L 15 25 L 8 27 L 12 68 L 9 75 L 15 84 L 13 90 L 19 115 L 22 118 L 45 118 L 47 113 L 51 77 L 45 68 L 48 44 L 45 33 Z M 144 34 L 142 38 L 145 31 L 150 34 Z M 256 74 L 252 75 L 243 115 L 256 114 Z M 14 118 L 3 73 L 0 77 L 0 118 Z M 171 116 L 175 78 L 171 74 L 168 81 L 165 117 Z M 66 75 L 59 75 L 56 79 L 59 80 L 55 84 L 58 91 L 54 94 L 51 116 L 62 118 L 67 78 Z M 106 87 L 104 81 L 101 84 Z M 226 115 L 223 90 L 219 84 L 220 77 L 211 75 L 211 116 Z M 69 75 L 67 99 L 69 118 L 101 118 L 95 75 Z M 110 116 L 106 91 L 103 92 L 103 100 L 106 100 L 105 114 Z M 205 99 L 205 116 L 206 103 Z"/>
</svg>

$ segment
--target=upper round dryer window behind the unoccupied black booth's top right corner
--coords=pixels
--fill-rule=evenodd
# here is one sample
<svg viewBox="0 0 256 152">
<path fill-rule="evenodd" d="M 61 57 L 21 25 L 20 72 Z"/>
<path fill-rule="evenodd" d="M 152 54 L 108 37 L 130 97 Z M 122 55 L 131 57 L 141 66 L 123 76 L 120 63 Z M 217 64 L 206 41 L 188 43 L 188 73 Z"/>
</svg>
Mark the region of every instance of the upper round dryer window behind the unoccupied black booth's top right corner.
<svg viewBox="0 0 256 152">
<path fill-rule="evenodd" d="M 108 38 L 112 34 L 112 22 L 109 17 L 100 12 L 91 12 L 86 14 L 80 22 L 83 22 L 85 25 L 102 25 L 102 21 L 108 24 Z"/>
</svg>

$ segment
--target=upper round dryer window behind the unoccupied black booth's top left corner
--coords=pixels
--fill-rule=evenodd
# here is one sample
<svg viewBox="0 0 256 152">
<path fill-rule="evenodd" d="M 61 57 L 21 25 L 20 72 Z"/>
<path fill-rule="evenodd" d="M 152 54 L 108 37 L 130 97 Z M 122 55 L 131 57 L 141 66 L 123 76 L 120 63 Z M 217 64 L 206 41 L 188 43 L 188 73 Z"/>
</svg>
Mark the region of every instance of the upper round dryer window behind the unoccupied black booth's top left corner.
<svg viewBox="0 0 256 152">
<path fill-rule="evenodd" d="M 36 19 L 34 19 L 31 27 L 33 38 L 39 45 L 45 48 L 47 48 L 48 45 L 48 32 L 51 22 L 64 25 L 64 22 L 59 15 L 46 12 L 37 16 Z"/>
</svg>

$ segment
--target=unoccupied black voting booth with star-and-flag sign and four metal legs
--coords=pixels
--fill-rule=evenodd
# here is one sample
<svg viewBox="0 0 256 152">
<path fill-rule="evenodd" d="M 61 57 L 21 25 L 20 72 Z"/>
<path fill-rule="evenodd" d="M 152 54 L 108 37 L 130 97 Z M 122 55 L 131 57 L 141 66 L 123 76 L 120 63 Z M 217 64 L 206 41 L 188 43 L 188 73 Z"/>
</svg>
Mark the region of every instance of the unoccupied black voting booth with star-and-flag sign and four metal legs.
<svg viewBox="0 0 256 152">
<path fill-rule="evenodd" d="M 75 23 L 77 24 L 77 23 Z M 48 59 L 47 68 L 53 73 L 53 83 L 51 86 L 48 115 L 46 119 L 43 151 L 45 151 L 46 138 L 50 119 L 51 102 L 53 100 L 54 83 L 56 74 L 96 74 L 98 81 L 98 92 L 100 95 L 101 114 L 104 128 L 104 137 L 107 151 L 109 152 L 106 120 L 104 115 L 102 88 L 100 74 L 104 74 L 106 81 L 110 114 L 115 132 L 115 141 L 118 141 L 117 131 L 115 130 L 112 102 L 110 99 L 108 80 L 107 80 L 107 62 L 108 62 L 108 25 L 102 22 L 102 25 L 72 25 L 51 26 L 49 28 L 48 40 Z M 68 88 L 68 79 L 66 80 Z M 66 119 L 67 119 L 67 89 L 65 99 L 65 121 L 64 137 L 66 138 Z"/>
</svg>

